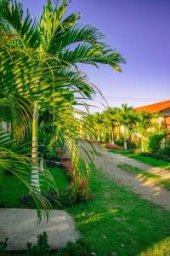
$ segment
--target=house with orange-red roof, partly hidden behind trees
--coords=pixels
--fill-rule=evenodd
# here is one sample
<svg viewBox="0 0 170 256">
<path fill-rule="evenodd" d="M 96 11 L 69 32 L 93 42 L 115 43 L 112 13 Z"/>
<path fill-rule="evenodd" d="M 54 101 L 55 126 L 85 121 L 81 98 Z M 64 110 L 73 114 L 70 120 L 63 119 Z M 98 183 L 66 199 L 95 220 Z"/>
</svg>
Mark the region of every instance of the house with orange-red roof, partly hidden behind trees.
<svg viewBox="0 0 170 256">
<path fill-rule="evenodd" d="M 137 112 L 161 113 L 162 117 L 157 118 L 158 122 L 163 125 L 167 131 L 170 131 L 170 101 L 158 102 L 147 106 L 136 108 Z"/>
</svg>

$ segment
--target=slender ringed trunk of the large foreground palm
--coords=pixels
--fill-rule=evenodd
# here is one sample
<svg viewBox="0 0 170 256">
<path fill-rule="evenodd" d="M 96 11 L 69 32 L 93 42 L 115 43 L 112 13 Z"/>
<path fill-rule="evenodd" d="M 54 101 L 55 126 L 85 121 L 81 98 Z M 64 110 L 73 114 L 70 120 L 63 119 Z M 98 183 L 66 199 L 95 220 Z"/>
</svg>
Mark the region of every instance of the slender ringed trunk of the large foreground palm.
<svg viewBox="0 0 170 256">
<path fill-rule="evenodd" d="M 37 154 L 37 127 L 38 127 L 38 104 L 34 102 L 33 120 L 32 120 L 32 148 L 31 148 L 31 188 L 40 192 L 39 167 Z"/>
</svg>

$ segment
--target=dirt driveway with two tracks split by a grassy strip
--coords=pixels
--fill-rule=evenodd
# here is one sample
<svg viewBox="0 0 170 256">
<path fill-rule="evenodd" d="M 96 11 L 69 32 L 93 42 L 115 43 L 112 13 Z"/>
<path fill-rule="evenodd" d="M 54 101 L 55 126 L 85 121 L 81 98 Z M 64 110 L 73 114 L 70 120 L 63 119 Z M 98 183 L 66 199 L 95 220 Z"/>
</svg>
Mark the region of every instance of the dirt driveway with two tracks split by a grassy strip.
<svg viewBox="0 0 170 256">
<path fill-rule="evenodd" d="M 145 165 L 137 160 L 129 159 L 122 154 L 113 154 L 99 148 L 99 146 L 95 146 L 95 148 L 99 153 L 99 156 L 94 155 L 95 164 L 98 168 L 101 168 L 103 172 L 114 177 L 118 183 L 125 184 L 129 189 L 138 193 L 143 198 L 170 210 L 170 191 L 162 189 L 158 183 L 150 182 L 144 177 L 121 171 L 117 165 L 126 163 L 148 172 L 158 173 L 162 177 L 170 177 L 170 171 Z"/>
</svg>

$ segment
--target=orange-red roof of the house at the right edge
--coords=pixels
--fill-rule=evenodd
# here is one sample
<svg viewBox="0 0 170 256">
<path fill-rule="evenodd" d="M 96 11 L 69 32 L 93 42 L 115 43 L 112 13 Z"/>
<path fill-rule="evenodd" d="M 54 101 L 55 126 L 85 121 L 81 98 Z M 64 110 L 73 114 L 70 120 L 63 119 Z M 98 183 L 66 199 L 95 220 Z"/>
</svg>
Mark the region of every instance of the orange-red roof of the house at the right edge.
<svg viewBox="0 0 170 256">
<path fill-rule="evenodd" d="M 158 102 L 158 103 L 150 104 L 150 105 L 147 105 L 144 107 L 139 107 L 139 108 L 136 108 L 136 111 L 137 112 L 145 111 L 148 113 L 157 113 L 166 108 L 170 108 L 170 101 Z"/>
</svg>

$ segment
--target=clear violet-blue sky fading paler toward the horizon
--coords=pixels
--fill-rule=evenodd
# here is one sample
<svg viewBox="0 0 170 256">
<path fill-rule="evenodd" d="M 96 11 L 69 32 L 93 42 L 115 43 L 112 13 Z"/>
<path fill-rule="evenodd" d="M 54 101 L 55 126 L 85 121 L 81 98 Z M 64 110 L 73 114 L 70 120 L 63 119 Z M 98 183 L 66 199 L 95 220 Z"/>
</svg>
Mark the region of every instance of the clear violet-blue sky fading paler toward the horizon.
<svg viewBox="0 0 170 256">
<path fill-rule="evenodd" d="M 21 2 L 38 18 L 46 0 Z M 109 105 L 138 107 L 170 99 L 170 0 L 72 0 L 71 11 L 104 32 L 127 60 L 123 73 L 107 66 L 82 67 Z"/>
</svg>

